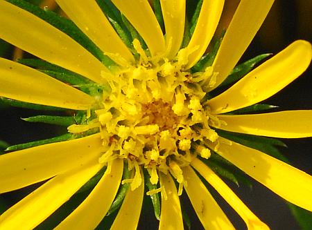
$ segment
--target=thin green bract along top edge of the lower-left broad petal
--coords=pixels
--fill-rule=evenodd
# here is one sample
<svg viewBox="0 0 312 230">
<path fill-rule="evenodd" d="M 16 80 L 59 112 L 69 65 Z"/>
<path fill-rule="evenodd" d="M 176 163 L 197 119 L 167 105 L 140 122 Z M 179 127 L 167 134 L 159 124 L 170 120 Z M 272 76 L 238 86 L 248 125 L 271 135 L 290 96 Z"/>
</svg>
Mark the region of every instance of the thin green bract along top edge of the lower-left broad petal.
<svg viewBox="0 0 312 230">
<path fill-rule="evenodd" d="M 40 146 L 43 144 L 50 144 L 50 143 L 55 143 L 55 142 L 64 142 L 66 140 L 69 140 L 71 137 L 73 137 L 73 135 L 71 133 L 66 133 L 64 135 L 60 135 L 58 137 L 52 137 L 52 138 L 45 139 L 45 140 L 28 142 L 28 143 L 24 143 L 24 144 L 15 144 L 15 145 L 12 145 L 12 146 L 9 146 L 8 148 L 6 148 L 6 151 L 17 151 L 17 150 L 21 150 L 21 149 L 25 149 L 25 148 Z"/>
</svg>

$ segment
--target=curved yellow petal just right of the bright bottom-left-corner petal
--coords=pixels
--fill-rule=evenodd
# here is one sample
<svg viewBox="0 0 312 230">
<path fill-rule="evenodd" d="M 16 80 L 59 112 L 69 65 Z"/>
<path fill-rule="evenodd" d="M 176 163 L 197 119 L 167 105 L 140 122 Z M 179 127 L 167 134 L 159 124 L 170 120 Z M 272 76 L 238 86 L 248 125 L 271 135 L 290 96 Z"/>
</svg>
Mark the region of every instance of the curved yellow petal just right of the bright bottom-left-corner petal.
<svg viewBox="0 0 312 230">
<path fill-rule="evenodd" d="M 110 172 L 105 171 L 88 197 L 65 218 L 56 229 L 95 229 L 106 215 L 121 183 L 123 160 L 112 162 Z"/>
</svg>

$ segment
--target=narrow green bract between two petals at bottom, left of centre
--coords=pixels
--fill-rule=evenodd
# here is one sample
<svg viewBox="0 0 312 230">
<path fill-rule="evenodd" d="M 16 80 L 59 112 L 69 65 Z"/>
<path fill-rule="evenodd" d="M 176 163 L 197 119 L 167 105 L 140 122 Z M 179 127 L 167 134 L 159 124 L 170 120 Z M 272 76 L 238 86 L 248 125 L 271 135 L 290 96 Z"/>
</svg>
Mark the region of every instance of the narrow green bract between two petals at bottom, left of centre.
<svg viewBox="0 0 312 230">
<path fill-rule="evenodd" d="M 130 176 L 131 176 L 131 172 L 128 171 L 128 165 L 125 164 L 123 166 L 123 180 L 129 179 Z M 119 207 L 121 207 L 121 204 L 123 202 L 123 199 L 125 198 L 125 194 L 127 193 L 129 187 L 130 187 L 129 183 L 122 184 L 119 187 L 119 191 L 114 199 L 114 202 L 112 202 L 112 205 L 110 206 L 110 210 L 107 211 L 106 215 L 110 215 L 114 213 L 114 211 L 116 211 L 117 209 L 119 209 Z"/>
</svg>

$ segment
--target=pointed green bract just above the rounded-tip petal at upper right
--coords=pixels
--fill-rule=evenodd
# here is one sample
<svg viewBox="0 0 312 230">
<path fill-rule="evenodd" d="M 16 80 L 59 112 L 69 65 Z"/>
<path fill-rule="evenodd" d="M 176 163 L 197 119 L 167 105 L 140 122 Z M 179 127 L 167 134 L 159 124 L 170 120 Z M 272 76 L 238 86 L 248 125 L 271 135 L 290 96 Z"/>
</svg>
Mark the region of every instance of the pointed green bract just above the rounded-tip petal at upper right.
<svg viewBox="0 0 312 230">
<path fill-rule="evenodd" d="M 270 55 L 272 54 L 266 53 L 263 55 L 258 55 L 257 57 L 245 61 L 243 64 L 240 64 L 239 66 L 236 66 L 229 74 L 229 76 L 222 82 L 222 84 L 220 84 L 220 86 L 228 86 L 229 84 L 239 81 L 239 79 L 241 79 L 243 76 L 249 73 L 250 70 L 252 70 L 252 68 L 254 68 L 256 64 L 258 64 L 260 61 L 262 61 L 263 59 L 265 59 Z"/>
</svg>

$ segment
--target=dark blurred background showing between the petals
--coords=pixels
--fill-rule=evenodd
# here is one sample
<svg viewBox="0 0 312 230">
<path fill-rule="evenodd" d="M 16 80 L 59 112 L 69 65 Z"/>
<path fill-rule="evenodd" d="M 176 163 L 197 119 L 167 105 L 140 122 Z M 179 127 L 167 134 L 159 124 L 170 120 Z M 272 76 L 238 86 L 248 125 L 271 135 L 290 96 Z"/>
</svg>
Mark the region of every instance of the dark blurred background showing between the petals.
<svg viewBox="0 0 312 230">
<path fill-rule="evenodd" d="M 226 1 L 220 28 L 227 25 L 238 2 L 234 0 Z M 257 37 L 252 41 L 250 48 L 245 52 L 241 61 L 261 53 L 272 52 L 276 54 L 296 39 L 306 39 L 311 42 L 311 13 L 312 1 L 275 1 L 265 23 L 263 23 Z M 10 52 L 7 53 L 7 57 L 10 57 Z M 274 97 L 266 100 L 266 103 L 280 106 L 283 110 L 312 109 L 311 74 L 311 68 L 309 68 L 295 82 L 281 90 Z M 54 137 L 66 130 L 49 125 L 28 124 L 20 119 L 20 117 L 36 115 L 35 111 L 0 106 L 0 112 L 0 140 L 4 140 L 9 144 L 42 140 Z M 281 148 L 281 152 L 291 160 L 293 166 L 312 174 L 312 138 L 283 141 L 288 148 Z M 254 187 L 250 190 L 245 186 L 237 188 L 231 182 L 228 184 L 271 229 L 300 229 L 284 201 L 262 185 L 254 183 Z M 185 198 L 185 195 L 183 198 Z M 11 196 L 10 199 L 15 200 Z M 222 200 L 220 202 L 224 203 Z M 183 203 L 186 207 L 191 206 L 188 205 L 187 199 L 183 199 Z M 225 210 L 229 211 L 229 215 L 234 222 L 238 221 L 239 224 L 236 225 L 238 229 L 245 228 L 243 222 L 238 220 L 237 215 L 227 205 L 225 205 Z M 153 213 L 150 210 L 145 210 L 145 212 L 147 215 L 141 216 L 139 229 L 157 229 L 158 224 L 153 217 Z M 193 223 L 191 229 L 202 229 L 194 213 L 190 215 L 190 218 Z"/>
</svg>

